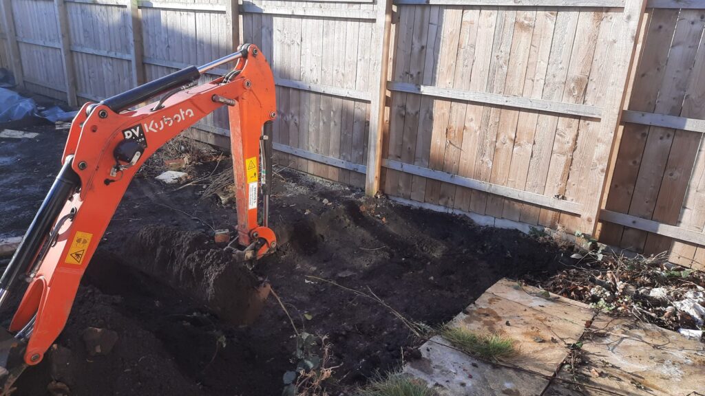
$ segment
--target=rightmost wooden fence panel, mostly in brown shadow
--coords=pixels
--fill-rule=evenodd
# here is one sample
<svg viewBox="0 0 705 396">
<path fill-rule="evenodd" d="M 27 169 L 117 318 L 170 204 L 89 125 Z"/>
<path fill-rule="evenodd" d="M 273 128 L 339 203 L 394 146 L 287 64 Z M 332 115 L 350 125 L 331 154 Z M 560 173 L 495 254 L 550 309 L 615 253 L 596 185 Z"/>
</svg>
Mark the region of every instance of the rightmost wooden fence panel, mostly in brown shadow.
<svg viewBox="0 0 705 396">
<path fill-rule="evenodd" d="M 673 261 L 702 268 L 705 256 L 697 241 L 705 225 L 703 134 L 680 129 L 688 128 L 686 120 L 694 125 L 705 118 L 705 4 L 700 8 L 649 12 L 627 109 L 670 116 L 675 123 L 648 125 L 639 118 L 625 123 L 605 206 L 615 223 L 603 223 L 601 240 L 646 254 L 670 252 Z M 657 225 L 656 231 L 639 226 L 640 219 Z M 673 233 L 658 231 L 668 225 L 684 232 L 673 239 Z"/>
</svg>

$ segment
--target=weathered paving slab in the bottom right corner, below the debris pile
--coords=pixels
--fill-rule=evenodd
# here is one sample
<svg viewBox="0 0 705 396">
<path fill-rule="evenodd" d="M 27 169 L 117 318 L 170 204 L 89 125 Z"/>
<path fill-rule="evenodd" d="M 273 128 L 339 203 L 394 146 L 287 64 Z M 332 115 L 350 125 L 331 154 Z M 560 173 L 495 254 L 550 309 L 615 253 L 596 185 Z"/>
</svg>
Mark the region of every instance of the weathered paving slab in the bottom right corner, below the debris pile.
<svg viewBox="0 0 705 396">
<path fill-rule="evenodd" d="M 705 344 L 634 318 L 599 314 L 580 350 L 584 364 L 577 376 L 560 378 L 620 395 L 705 394 Z M 601 395 L 585 388 L 585 395 Z"/>
</svg>

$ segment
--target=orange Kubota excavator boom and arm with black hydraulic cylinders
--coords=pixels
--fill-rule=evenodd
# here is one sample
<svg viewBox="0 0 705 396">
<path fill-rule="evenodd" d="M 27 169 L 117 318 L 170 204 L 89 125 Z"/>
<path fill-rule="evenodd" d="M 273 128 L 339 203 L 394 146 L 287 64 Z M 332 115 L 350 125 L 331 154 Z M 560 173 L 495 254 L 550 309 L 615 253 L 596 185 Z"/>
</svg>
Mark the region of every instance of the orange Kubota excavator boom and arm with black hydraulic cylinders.
<svg viewBox="0 0 705 396">
<path fill-rule="evenodd" d="M 231 71 L 198 85 L 204 73 L 231 62 Z M 26 287 L 9 328 L 0 329 L 1 395 L 12 391 L 27 366 L 42 361 L 63 330 L 86 266 L 142 163 L 222 106 L 230 116 L 235 174 L 239 247 L 233 255 L 256 260 L 276 248 L 267 222 L 274 95 L 263 54 L 243 44 L 204 66 L 81 107 L 61 171 L 0 278 L 0 309 L 11 305 L 11 293 Z"/>
</svg>

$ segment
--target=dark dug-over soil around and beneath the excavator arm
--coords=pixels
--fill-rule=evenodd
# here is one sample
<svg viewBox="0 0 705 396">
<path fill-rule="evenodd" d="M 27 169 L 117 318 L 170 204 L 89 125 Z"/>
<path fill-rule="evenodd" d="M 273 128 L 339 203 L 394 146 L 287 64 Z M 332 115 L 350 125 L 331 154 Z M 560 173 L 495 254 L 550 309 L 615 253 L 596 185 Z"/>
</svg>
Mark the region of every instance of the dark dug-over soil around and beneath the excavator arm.
<svg viewBox="0 0 705 396">
<path fill-rule="evenodd" d="M 0 140 L 0 236 L 24 232 L 59 169 L 66 131 L 33 130 L 36 140 Z M 47 394 L 52 379 L 72 395 L 279 395 L 283 373 L 295 368 L 288 317 L 270 296 L 255 323 L 239 326 L 262 282 L 299 330 L 329 336 L 332 363 L 341 364 L 329 390 L 349 394 L 402 354 L 412 359 L 418 341 L 381 304 L 307 276 L 374 292 L 410 320 L 438 326 L 499 278 L 554 271 L 562 254 L 514 230 L 283 171 L 270 219 L 279 249 L 250 275 L 213 242 L 213 229 L 234 230 L 234 209 L 200 199 L 204 186 L 160 185 L 156 171 L 130 186 L 56 350 L 25 371 L 16 395 Z M 88 327 L 118 333 L 109 354 L 87 354 Z"/>
</svg>

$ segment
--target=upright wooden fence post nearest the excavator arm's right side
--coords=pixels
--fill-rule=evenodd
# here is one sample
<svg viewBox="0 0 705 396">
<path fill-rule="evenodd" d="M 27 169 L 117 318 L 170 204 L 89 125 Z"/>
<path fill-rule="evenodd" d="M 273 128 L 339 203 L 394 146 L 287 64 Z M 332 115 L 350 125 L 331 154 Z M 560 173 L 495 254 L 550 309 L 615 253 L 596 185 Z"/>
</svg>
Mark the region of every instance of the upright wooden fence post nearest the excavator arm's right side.
<svg viewBox="0 0 705 396">
<path fill-rule="evenodd" d="M 372 27 L 371 51 L 378 50 L 372 58 L 372 93 L 369 113 L 369 140 L 367 141 L 367 175 L 364 191 L 374 195 L 379 191 L 382 164 L 382 138 L 384 137 L 384 108 L 387 96 L 387 72 L 389 63 L 389 37 L 391 35 L 392 0 L 376 0 L 376 18 Z"/>
</svg>

